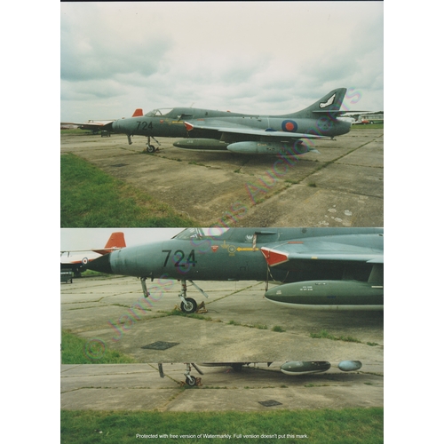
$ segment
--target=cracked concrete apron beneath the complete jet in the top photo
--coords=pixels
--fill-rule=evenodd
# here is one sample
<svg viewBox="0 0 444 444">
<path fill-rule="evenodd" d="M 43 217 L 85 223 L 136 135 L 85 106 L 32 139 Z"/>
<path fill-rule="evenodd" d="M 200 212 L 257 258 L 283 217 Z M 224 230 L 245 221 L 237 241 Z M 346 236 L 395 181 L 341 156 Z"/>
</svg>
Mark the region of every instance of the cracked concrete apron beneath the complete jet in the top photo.
<svg viewBox="0 0 444 444">
<path fill-rule="evenodd" d="M 62 134 L 61 153 L 98 166 L 199 226 L 384 226 L 384 131 L 353 130 L 318 140 L 321 154 L 296 159 L 173 147 L 159 138 Z M 239 209 L 242 208 L 242 211 Z M 234 216 L 234 218 L 233 218 Z"/>
</svg>

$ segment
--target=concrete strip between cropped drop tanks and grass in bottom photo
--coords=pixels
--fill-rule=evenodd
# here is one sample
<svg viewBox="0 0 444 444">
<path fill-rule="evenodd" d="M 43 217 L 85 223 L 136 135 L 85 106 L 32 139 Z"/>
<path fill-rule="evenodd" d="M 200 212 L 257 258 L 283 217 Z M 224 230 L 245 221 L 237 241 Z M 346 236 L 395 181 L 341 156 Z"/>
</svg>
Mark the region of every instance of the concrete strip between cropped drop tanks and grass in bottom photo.
<svg viewBox="0 0 444 444">
<path fill-rule="evenodd" d="M 202 385 L 184 390 L 184 364 L 62 365 L 61 408 L 68 410 L 270 411 L 383 407 L 384 378 L 362 369 L 291 377 L 279 363 L 234 372 L 201 367 Z M 195 370 L 194 375 L 199 376 Z M 205 389 L 205 390 L 202 390 Z"/>
</svg>

